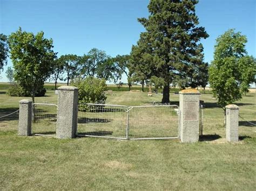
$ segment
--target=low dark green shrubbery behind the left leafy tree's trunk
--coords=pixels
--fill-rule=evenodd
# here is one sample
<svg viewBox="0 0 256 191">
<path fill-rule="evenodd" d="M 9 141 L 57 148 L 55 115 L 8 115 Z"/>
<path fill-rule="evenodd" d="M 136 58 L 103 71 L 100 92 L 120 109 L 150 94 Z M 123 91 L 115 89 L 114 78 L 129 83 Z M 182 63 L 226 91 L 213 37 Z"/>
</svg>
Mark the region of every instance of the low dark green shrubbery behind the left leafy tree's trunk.
<svg viewBox="0 0 256 191">
<path fill-rule="evenodd" d="M 41 89 L 41 90 L 36 92 L 36 97 L 44 96 L 46 93 L 46 89 L 43 87 L 41 87 L 39 89 Z M 29 91 L 25 90 L 24 88 L 19 86 L 17 83 L 11 84 L 7 93 L 9 96 L 17 96 L 17 97 L 30 97 L 31 96 L 31 93 Z"/>
</svg>

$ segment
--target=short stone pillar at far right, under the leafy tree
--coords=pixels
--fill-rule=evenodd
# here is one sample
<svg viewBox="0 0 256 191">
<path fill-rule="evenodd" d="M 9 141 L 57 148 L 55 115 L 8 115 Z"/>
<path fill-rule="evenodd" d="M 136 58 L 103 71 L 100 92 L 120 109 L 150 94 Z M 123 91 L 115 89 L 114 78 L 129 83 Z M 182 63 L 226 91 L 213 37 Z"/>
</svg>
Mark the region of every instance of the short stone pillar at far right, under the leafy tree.
<svg viewBox="0 0 256 191">
<path fill-rule="evenodd" d="M 237 105 L 226 106 L 226 139 L 228 142 L 238 142 L 238 115 Z"/>
</svg>

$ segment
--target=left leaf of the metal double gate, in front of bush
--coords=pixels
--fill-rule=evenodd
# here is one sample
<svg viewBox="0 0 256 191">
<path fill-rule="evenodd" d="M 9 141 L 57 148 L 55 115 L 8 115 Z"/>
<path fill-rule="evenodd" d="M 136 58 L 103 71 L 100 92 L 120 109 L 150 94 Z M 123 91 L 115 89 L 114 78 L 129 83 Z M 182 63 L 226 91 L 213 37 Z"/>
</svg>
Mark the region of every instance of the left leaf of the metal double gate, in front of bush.
<svg viewBox="0 0 256 191">
<path fill-rule="evenodd" d="M 127 107 L 124 105 L 78 105 L 77 135 L 126 139 Z"/>
</svg>

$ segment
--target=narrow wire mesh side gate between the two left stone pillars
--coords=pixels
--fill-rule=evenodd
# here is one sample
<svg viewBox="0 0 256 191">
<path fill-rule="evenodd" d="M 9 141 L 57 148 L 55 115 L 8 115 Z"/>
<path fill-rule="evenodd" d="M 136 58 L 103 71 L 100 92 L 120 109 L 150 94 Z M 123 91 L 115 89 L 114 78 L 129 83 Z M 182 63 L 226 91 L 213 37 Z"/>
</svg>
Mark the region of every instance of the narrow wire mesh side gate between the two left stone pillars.
<svg viewBox="0 0 256 191">
<path fill-rule="evenodd" d="M 56 136 L 56 104 L 33 103 L 32 133 L 37 136 Z"/>
</svg>

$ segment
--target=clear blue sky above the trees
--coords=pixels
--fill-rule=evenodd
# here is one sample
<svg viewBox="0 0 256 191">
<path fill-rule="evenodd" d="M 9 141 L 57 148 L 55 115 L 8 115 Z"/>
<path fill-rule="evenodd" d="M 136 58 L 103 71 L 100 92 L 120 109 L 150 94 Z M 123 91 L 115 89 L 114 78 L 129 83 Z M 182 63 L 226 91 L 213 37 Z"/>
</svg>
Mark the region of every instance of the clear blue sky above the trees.
<svg viewBox="0 0 256 191">
<path fill-rule="evenodd" d="M 201 42 L 205 61 L 211 62 L 215 39 L 228 29 L 247 36 L 246 49 L 256 56 L 255 0 L 200 0 L 196 6 L 200 26 L 210 35 Z M 147 17 L 149 0 L 0 0 L 0 33 L 44 31 L 53 39 L 54 51 L 82 55 L 93 47 L 111 56 L 129 54 Z M 8 61 L 8 66 L 12 66 Z M 6 69 L 8 66 L 5 66 Z M 5 70 L 0 81 L 7 81 Z M 125 79 L 124 79 L 125 81 Z"/>
</svg>

